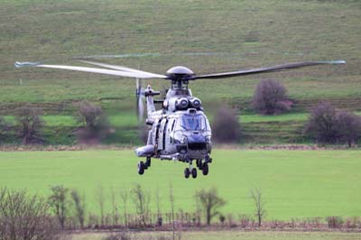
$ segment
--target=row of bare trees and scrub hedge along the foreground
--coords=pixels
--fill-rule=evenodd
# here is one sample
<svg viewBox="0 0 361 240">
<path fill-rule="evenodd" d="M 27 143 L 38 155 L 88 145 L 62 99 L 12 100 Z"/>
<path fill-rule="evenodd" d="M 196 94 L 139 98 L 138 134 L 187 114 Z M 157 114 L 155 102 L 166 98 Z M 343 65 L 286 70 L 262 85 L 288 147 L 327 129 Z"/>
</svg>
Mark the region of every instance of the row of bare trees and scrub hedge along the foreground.
<svg viewBox="0 0 361 240">
<path fill-rule="evenodd" d="M 196 209 L 183 211 L 175 209 L 177 199 L 170 185 L 167 198 L 160 198 L 159 189 L 151 192 L 135 184 L 132 189 L 111 189 L 110 198 L 105 190 L 97 189 L 98 214 L 88 210 L 87 198 L 77 189 L 52 186 L 47 198 L 32 195 L 26 190 L 0 189 L 0 239 L 59 239 L 60 233 L 75 229 L 138 229 L 166 230 L 172 232 L 203 227 L 242 228 L 360 228 L 360 217 L 321 217 L 292 219 L 289 222 L 268 220 L 266 201 L 261 189 L 250 189 L 249 199 L 254 205 L 254 214 L 233 214 L 225 216 L 221 208 L 227 201 L 218 190 L 199 189 L 194 194 Z M 155 201 L 156 210 L 150 208 Z M 110 210 L 106 208 L 110 203 Z M 170 207 L 162 208 L 165 203 Z M 134 210 L 131 210 L 133 208 Z M 272 219 L 271 217 L 268 217 Z M 326 222 L 326 224 L 325 224 Z"/>
</svg>

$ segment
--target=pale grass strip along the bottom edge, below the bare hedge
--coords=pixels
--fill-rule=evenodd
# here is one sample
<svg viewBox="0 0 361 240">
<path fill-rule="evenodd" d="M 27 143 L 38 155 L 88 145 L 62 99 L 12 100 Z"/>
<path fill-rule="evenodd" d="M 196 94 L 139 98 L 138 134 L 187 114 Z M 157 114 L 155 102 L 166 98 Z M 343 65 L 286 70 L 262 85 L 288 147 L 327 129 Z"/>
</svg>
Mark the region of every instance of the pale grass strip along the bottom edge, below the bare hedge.
<svg viewBox="0 0 361 240">
<path fill-rule="evenodd" d="M 80 234 L 73 235 L 72 240 L 101 240 L 108 234 Z M 138 233 L 135 234 L 139 239 L 143 239 L 144 235 L 152 235 L 152 233 Z M 167 235 L 167 234 L 153 234 L 153 235 Z M 304 232 L 239 232 L 239 231 L 207 231 L 207 232 L 183 232 L 181 239 L 190 240 L 356 240 L 360 238 L 359 233 L 304 233 Z"/>
</svg>

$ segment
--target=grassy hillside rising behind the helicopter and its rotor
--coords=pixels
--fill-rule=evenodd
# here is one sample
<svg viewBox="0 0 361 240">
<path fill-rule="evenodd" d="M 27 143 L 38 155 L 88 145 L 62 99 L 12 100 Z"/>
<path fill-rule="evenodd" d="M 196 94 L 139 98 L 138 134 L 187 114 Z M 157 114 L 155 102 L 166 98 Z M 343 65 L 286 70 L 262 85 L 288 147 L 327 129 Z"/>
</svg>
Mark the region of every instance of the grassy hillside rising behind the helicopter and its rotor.
<svg viewBox="0 0 361 240">
<path fill-rule="evenodd" d="M 128 119 L 129 114 L 133 115 L 132 79 L 14 69 L 13 64 L 15 60 L 67 63 L 72 56 L 138 52 L 156 54 L 109 61 L 160 73 L 174 65 L 206 73 L 295 60 L 345 59 L 347 66 L 343 67 L 316 67 L 222 81 L 199 80 L 191 88 L 210 115 L 215 113 L 213 106 L 222 101 L 242 109 L 241 114 L 252 114 L 248 103 L 262 78 L 282 81 L 290 96 L 297 100 L 297 113 L 309 109 L 319 99 L 334 99 L 339 107 L 361 110 L 358 68 L 361 5 L 357 1 L 213 0 L 183 4 L 164 0 L 136 3 L 3 0 L 0 5 L 0 113 L 6 115 L 25 102 L 42 106 L 47 114 L 69 115 L 71 102 L 88 99 L 100 103 L 109 115 L 120 113 L 121 121 Z M 149 83 L 154 88 L 167 86 L 162 81 Z M 59 124 L 51 126 L 48 134 L 69 123 L 64 118 L 53 122 Z M 279 122 L 278 118 L 274 122 Z M 300 120 L 264 125 L 263 119 L 259 119 L 259 123 L 260 127 L 245 123 L 246 141 L 303 141 L 297 137 Z M 121 143 L 134 142 L 136 138 L 135 131 L 126 134 L 119 129 L 118 133 L 112 138 L 122 139 L 125 134 Z M 53 136 L 50 143 L 63 138 Z"/>
</svg>

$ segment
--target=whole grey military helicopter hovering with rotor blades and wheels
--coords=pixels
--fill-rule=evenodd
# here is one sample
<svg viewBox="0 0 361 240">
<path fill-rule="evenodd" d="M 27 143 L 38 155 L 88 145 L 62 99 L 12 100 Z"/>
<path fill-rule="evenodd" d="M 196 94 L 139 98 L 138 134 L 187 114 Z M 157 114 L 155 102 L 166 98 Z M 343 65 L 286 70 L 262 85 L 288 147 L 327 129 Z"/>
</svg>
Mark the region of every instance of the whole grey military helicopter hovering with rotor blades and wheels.
<svg viewBox="0 0 361 240">
<path fill-rule="evenodd" d="M 84 72 L 100 73 L 118 77 L 136 78 L 136 97 L 138 115 L 143 113 L 143 97 L 146 98 L 147 119 L 146 125 L 152 126 L 148 133 L 147 143 L 135 149 L 138 157 L 145 158 L 140 161 L 137 171 L 140 175 L 151 167 L 151 159 L 180 161 L 189 164 L 184 170 L 186 179 L 197 178 L 197 168 L 203 175 L 208 175 L 208 164 L 212 162 L 210 157 L 212 150 L 211 129 L 207 115 L 201 101 L 193 97 L 188 85 L 190 81 L 197 79 L 232 78 L 244 75 L 261 74 L 266 72 L 282 71 L 286 69 L 300 69 L 304 67 L 329 64 L 345 64 L 344 60 L 335 61 L 301 61 L 276 65 L 266 68 L 240 69 L 236 71 L 197 75 L 191 69 L 177 66 L 168 69 L 167 72 L 156 74 L 139 69 L 126 68 L 124 66 L 111 65 L 93 60 L 80 60 L 83 63 L 100 68 L 79 66 L 48 65 L 41 62 L 15 62 L 15 67 L 38 67 L 49 69 L 67 69 Z M 159 91 L 150 86 L 143 89 L 140 79 L 161 78 L 171 82 L 164 99 L 154 99 L 160 95 Z M 162 107 L 156 110 L 155 103 L 161 103 Z M 196 167 L 193 167 L 193 162 Z"/>
</svg>

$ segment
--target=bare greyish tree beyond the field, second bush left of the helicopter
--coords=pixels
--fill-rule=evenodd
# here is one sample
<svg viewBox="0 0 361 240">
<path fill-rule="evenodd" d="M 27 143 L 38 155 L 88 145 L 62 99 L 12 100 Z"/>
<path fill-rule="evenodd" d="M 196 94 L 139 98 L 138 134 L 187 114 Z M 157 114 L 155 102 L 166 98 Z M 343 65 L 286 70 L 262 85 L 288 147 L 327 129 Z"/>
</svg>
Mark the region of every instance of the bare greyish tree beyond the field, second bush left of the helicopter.
<svg viewBox="0 0 361 240">
<path fill-rule="evenodd" d="M 42 143 L 40 133 L 44 122 L 41 115 L 42 109 L 37 107 L 23 106 L 16 109 L 15 120 L 23 144 Z"/>
</svg>

